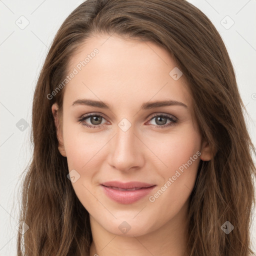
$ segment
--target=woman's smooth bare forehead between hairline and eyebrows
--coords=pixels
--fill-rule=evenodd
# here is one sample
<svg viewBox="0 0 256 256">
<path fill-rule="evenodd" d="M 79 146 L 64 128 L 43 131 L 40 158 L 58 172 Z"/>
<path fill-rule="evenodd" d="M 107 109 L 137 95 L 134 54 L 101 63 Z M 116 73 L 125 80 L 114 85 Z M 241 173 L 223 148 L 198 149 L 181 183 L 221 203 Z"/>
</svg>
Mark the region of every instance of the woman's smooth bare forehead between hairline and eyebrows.
<svg viewBox="0 0 256 256">
<path fill-rule="evenodd" d="M 118 107 L 165 99 L 191 104 L 185 77 L 172 76 L 181 70 L 170 53 L 153 42 L 94 35 L 80 45 L 68 69 L 75 70 L 65 88 L 68 105 L 82 97 L 116 102 Z"/>
</svg>

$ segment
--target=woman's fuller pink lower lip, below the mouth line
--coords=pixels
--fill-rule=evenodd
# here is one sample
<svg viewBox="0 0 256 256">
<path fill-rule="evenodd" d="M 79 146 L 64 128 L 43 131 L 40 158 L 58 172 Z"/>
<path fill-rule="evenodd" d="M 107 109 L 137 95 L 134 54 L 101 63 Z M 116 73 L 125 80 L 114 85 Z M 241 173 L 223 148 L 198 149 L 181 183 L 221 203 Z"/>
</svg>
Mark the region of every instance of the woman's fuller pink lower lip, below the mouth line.
<svg viewBox="0 0 256 256">
<path fill-rule="evenodd" d="M 155 187 L 154 185 L 150 187 L 140 188 L 137 190 L 125 191 L 125 190 L 113 189 L 103 185 L 101 186 L 108 197 L 122 204 L 129 204 L 139 200 L 140 198 L 146 196 Z"/>
</svg>

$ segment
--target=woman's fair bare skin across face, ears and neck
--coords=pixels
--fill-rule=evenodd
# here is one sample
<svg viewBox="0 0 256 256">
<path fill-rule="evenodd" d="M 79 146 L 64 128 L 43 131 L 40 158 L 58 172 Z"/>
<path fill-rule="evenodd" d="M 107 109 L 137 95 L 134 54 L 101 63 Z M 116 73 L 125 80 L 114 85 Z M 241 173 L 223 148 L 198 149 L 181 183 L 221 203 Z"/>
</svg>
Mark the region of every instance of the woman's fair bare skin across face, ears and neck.
<svg viewBox="0 0 256 256">
<path fill-rule="evenodd" d="M 60 153 L 67 157 L 69 171 L 80 177 L 73 189 L 90 214 L 93 242 L 90 256 L 106 255 L 185 255 L 188 197 L 195 183 L 199 160 L 209 160 L 211 152 L 201 139 L 192 112 L 192 98 L 182 75 L 174 80 L 169 72 L 176 63 L 170 54 L 153 42 L 117 35 L 94 35 L 72 56 L 72 70 L 84 56 L 99 53 L 65 85 L 63 115 L 57 104 L 52 113 L 57 127 Z M 101 100 L 111 109 L 75 104 L 82 98 Z M 140 110 L 144 102 L 176 100 L 180 105 Z M 87 128 L 78 121 L 85 114 L 103 116 L 99 127 Z M 161 128 L 154 114 L 167 118 Z M 118 123 L 126 118 L 125 132 Z M 95 125 L 92 118 L 87 124 Z M 157 198 L 156 193 L 169 177 L 197 151 L 201 155 Z M 100 183 L 109 180 L 142 181 L 156 184 L 150 194 L 131 204 L 107 197 Z M 126 233 L 118 226 L 126 221 Z"/>
</svg>

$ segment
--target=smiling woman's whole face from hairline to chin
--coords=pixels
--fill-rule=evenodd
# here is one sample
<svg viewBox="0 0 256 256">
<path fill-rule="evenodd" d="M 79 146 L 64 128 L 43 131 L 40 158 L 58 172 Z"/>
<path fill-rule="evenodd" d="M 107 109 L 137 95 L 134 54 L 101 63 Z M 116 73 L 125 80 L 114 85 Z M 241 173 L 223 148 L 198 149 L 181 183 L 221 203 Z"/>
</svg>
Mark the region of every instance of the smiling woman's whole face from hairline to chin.
<svg viewBox="0 0 256 256">
<path fill-rule="evenodd" d="M 75 75 L 65 85 L 59 150 L 90 219 L 108 232 L 137 236 L 177 218 L 209 153 L 170 54 L 153 42 L 94 35 L 69 70 Z M 146 184 L 120 190 L 133 181 Z"/>
</svg>

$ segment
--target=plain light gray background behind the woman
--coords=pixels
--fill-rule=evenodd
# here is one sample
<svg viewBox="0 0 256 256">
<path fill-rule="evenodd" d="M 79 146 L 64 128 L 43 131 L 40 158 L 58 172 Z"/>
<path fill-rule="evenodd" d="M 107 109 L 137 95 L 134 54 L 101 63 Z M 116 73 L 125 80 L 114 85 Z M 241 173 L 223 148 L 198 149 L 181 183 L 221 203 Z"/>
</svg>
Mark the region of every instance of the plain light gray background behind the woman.
<svg viewBox="0 0 256 256">
<path fill-rule="evenodd" d="M 248 129 L 255 145 L 256 0 L 189 1 L 210 18 L 225 42 L 250 116 Z M 57 29 L 81 2 L 0 0 L 0 256 L 16 255 L 18 178 L 32 153 L 29 136 L 36 80 Z M 29 24 L 23 28 L 26 22 Z M 21 118 L 28 123 L 27 128 L 16 126 Z M 254 250 L 255 222 L 251 229 Z"/>
</svg>

